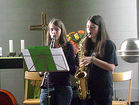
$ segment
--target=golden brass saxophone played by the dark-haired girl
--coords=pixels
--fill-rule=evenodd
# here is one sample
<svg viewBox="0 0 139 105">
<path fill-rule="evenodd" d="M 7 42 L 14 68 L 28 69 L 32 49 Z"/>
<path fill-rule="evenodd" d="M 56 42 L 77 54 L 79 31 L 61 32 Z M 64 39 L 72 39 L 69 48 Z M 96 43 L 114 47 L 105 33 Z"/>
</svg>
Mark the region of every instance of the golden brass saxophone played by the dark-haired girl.
<svg viewBox="0 0 139 105">
<path fill-rule="evenodd" d="M 78 44 L 78 60 L 79 60 L 79 69 L 76 71 L 75 78 L 77 79 L 77 88 L 79 98 L 84 100 L 87 98 L 88 92 L 88 84 L 87 84 L 87 72 L 86 67 L 81 65 L 81 58 L 84 58 L 83 51 L 83 42 L 87 37 L 85 36 Z"/>
</svg>

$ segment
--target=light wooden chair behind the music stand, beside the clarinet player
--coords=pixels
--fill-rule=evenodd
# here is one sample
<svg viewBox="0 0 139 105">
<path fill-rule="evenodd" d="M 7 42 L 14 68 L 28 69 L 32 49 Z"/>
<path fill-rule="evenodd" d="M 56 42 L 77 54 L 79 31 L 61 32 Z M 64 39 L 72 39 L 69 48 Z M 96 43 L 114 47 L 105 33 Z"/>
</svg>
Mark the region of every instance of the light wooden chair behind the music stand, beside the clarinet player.
<svg viewBox="0 0 139 105">
<path fill-rule="evenodd" d="M 25 95 L 24 95 L 24 105 L 28 104 L 40 104 L 40 99 L 28 98 L 28 87 L 29 81 L 42 81 L 42 77 L 38 75 L 38 72 L 25 72 Z M 39 84 L 40 85 L 40 84 Z"/>
</svg>

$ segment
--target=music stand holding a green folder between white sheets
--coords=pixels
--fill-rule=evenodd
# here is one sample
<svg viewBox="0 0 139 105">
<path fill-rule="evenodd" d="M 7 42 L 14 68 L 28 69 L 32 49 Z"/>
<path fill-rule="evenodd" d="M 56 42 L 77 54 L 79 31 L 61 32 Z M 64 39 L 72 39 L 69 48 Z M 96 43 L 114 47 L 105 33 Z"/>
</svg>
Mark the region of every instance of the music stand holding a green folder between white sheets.
<svg viewBox="0 0 139 105">
<path fill-rule="evenodd" d="M 49 72 L 69 71 L 69 66 L 62 48 L 50 49 L 49 46 L 32 46 L 28 49 L 23 49 L 21 52 L 28 71 L 45 72 L 43 81 L 48 77 Z M 48 105 L 50 105 L 49 78 L 47 78 L 47 88 Z"/>
</svg>

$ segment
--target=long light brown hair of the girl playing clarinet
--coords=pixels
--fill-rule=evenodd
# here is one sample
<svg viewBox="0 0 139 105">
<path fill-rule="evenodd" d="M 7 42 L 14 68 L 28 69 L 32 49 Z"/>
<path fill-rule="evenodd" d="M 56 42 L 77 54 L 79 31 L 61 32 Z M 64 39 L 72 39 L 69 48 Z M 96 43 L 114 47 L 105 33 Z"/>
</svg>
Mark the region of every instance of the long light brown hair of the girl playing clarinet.
<svg viewBox="0 0 139 105">
<path fill-rule="evenodd" d="M 47 31 L 48 45 L 50 45 L 50 43 L 51 43 L 50 29 L 49 29 L 50 24 L 54 24 L 55 26 L 57 26 L 57 27 L 59 27 L 61 29 L 61 35 L 60 35 L 60 38 L 59 38 L 59 44 L 62 47 L 64 47 L 66 45 L 66 43 L 67 43 L 67 40 L 66 40 L 67 31 L 66 31 L 64 23 L 60 19 L 56 19 L 56 18 L 52 19 L 49 22 L 49 24 L 48 24 L 48 31 Z"/>
</svg>

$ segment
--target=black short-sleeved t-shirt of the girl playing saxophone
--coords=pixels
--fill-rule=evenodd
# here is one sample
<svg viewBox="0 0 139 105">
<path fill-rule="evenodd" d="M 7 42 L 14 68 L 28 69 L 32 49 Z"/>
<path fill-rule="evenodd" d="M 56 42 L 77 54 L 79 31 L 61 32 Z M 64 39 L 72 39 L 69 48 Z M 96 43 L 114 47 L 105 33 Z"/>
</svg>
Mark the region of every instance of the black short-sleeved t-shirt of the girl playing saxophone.
<svg viewBox="0 0 139 105">
<path fill-rule="evenodd" d="M 91 53 L 90 53 L 91 55 Z M 111 40 L 106 41 L 103 61 L 118 65 L 116 57 L 116 46 Z M 104 70 L 93 63 L 88 65 L 88 87 L 94 96 L 109 94 L 113 91 L 112 72 Z"/>
</svg>

